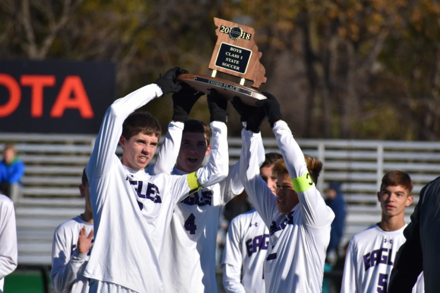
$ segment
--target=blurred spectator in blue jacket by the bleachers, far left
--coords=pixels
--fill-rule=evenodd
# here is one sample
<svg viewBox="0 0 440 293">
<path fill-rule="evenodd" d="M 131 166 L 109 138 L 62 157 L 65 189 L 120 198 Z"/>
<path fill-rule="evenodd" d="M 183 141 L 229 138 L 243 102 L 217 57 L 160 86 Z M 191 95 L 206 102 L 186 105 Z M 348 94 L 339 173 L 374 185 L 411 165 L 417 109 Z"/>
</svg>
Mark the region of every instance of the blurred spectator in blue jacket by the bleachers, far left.
<svg viewBox="0 0 440 293">
<path fill-rule="evenodd" d="M 6 144 L 3 149 L 3 160 L 0 162 L 0 189 L 14 202 L 21 193 L 23 174 L 24 163 L 18 158 L 14 145 Z"/>
</svg>

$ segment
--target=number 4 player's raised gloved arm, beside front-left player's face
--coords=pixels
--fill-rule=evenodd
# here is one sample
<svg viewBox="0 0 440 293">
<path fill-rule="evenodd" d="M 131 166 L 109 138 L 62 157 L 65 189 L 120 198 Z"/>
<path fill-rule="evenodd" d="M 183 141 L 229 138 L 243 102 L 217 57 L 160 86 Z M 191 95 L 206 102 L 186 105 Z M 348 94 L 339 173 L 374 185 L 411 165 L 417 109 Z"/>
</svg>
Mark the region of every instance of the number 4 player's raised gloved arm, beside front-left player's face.
<svg viewBox="0 0 440 293">
<path fill-rule="evenodd" d="M 182 89 L 173 94 L 173 121 L 168 125 L 168 132 L 160 146 L 154 166 L 149 167 L 147 173 L 170 174 L 173 171 L 179 154 L 184 123 L 188 120 L 193 105 L 202 95 L 203 93 L 186 84 L 182 84 Z"/>
</svg>

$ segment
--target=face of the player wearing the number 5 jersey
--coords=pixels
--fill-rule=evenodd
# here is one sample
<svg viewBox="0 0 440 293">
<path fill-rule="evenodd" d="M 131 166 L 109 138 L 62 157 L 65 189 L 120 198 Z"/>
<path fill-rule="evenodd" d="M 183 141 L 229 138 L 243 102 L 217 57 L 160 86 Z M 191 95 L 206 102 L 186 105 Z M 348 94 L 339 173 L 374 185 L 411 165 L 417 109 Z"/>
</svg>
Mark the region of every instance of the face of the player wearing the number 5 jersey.
<svg viewBox="0 0 440 293">
<path fill-rule="evenodd" d="M 405 208 L 411 205 L 413 197 L 409 190 L 401 185 L 386 186 L 377 192 L 377 199 L 380 202 L 382 213 L 386 216 L 404 216 Z"/>
</svg>

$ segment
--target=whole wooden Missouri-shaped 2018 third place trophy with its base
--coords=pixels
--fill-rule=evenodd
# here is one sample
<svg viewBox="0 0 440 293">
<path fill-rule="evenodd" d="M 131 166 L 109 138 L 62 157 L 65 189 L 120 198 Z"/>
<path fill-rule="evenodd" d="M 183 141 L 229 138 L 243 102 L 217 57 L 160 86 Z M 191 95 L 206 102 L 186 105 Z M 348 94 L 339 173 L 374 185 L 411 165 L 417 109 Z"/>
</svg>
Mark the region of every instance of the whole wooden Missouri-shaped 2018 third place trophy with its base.
<svg viewBox="0 0 440 293">
<path fill-rule="evenodd" d="M 217 43 L 209 63 L 212 75 L 180 74 L 177 80 L 189 84 L 205 94 L 211 88 L 221 96 L 232 100 L 240 97 L 247 105 L 255 105 L 266 97 L 254 88 L 266 82 L 266 70 L 260 63 L 262 53 L 254 42 L 255 30 L 252 27 L 214 18 Z M 240 83 L 216 78 L 217 71 L 241 78 Z M 252 87 L 245 86 L 245 80 L 252 81 Z"/>
</svg>

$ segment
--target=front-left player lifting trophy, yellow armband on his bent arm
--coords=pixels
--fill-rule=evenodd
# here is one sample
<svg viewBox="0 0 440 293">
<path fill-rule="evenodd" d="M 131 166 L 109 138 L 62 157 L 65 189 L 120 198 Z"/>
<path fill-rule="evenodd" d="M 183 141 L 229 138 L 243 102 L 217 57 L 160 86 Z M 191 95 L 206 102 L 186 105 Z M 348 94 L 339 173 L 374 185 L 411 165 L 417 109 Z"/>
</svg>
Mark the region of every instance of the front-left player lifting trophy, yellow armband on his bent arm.
<svg viewBox="0 0 440 293">
<path fill-rule="evenodd" d="M 213 146 L 207 166 L 185 175 L 147 174 L 160 125 L 148 113 L 132 113 L 156 97 L 177 92 L 178 67 L 110 105 L 104 115 L 86 173 L 93 210 L 93 250 L 84 276 L 89 292 L 163 292 L 160 257 L 176 204 L 228 170 L 226 109 L 212 101 Z M 130 114 L 132 113 L 132 114 Z M 117 144 L 122 160 L 115 155 Z M 167 156 L 163 156 L 167 159 Z"/>
</svg>

